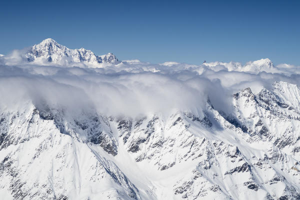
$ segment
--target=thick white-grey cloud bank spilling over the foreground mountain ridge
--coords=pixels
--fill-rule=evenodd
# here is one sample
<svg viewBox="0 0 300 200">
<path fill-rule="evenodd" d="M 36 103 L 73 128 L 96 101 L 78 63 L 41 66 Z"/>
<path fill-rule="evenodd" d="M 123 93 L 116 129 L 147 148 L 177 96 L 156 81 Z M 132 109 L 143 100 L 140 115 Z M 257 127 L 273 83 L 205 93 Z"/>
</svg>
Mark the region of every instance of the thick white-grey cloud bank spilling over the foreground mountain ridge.
<svg viewBox="0 0 300 200">
<path fill-rule="evenodd" d="M 271 89 L 271 84 L 279 80 L 300 83 L 297 66 L 275 67 L 269 62 L 265 65 L 269 71 L 253 72 L 242 71 L 240 65 L 232 63 L 150 64 L 137 60 L 103 68 L 80 68 L 12 65 L 12 61 L 7 64 L 7 56 L 3 57 L 1 107 L 31 100 L 38 106 L 58 105 L 72 111 L 94 109 L 106 115 L 135 116 L 174 109 L 201 115 L 208 98 L 216 109 L 230 112 L 232 94 L 240 89 L 250 87 L 259 92 L 263 87 Z M 17 60 L 15 57 L 12 60 Z M 248 68 L 262 67 L 261 62 L 248 63 Z M 232 70 L 235 66 L 236 70 Z"/>
</svg>

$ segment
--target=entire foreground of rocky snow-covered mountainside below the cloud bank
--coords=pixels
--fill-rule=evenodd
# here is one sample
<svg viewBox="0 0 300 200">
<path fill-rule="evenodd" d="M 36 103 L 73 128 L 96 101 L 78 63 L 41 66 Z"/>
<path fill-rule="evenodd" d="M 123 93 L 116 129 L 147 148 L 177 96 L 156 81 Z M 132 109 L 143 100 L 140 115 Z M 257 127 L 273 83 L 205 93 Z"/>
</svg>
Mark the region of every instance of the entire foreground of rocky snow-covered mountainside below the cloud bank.
<svg viewBox="0 0 300 200">
<path fill-rule="evenodd" d="M 0 110 L 6 199 L 299 199 L 300 90 L 274 82 L 207 100 L 204 115 L 69 114 L 31 101 Z M 9 184 L 7 184 L 9 183 Z M 232 186 L 234 185 L 234 186 Z"/>
</svg>

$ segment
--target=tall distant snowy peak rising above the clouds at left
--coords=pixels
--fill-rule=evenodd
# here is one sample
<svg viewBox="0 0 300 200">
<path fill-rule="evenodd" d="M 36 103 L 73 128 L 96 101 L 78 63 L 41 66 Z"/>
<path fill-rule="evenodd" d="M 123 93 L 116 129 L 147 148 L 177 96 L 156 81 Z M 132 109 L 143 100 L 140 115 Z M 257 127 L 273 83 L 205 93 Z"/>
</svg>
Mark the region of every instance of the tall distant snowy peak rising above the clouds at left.
<svg viewBox="0 0 300 200">
<path fill-rule="evenodd" d="M 92 51 L 84 48 L 69 49 L 58 44 L 51 38 L 44 39 L 39 44 L 33 45 L 25 58 L 29 62 L 40 64 L 98 66 L 101 63 L 117 63 L 118 59 L 112 53 L 96 56 Z"/>
</svg>

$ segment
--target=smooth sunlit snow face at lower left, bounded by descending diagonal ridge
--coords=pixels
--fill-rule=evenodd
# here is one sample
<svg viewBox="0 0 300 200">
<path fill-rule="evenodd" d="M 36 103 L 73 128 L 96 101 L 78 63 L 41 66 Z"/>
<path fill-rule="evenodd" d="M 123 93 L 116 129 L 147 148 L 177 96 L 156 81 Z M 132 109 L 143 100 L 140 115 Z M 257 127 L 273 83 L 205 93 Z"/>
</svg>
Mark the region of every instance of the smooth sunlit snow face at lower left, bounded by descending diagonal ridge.
<svg viewBox="0 0 300 200">
<path fill-rule="evenodd" d="M 65 121 L 62 127 L 55 120 L 58 113 L 53 116 L 46 111 L 40 112 L 30 102 L 20 110 L 1 110 L 1 196 L 6 199 L 87 196 L 140 199 L 137 189 L 119 168 L 103 157 L 103 153 L 91 150 L 93 144 L 101 146 L 99 142 L 106 140 L 102 129 L 107 126 L 97 129 L 101 132 L 93 134 L 91 142 L 86 143 L 83 141 L 88 137 L 82 137 L 88 135 L 82 135 L 85 126 L 78 118 L 73 124 Z M 88 122 L 103 122 L 101 117 L 92 117 Z M 107 150 L 103 149 L 103 152 Z"/>
</svg>

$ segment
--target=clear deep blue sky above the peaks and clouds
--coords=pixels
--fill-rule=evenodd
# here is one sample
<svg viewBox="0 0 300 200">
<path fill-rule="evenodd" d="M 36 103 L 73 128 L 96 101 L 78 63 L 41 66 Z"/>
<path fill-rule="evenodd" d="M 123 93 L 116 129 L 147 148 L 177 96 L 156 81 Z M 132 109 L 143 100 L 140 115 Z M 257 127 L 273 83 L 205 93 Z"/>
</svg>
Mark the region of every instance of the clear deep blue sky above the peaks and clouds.
<svg viewBox="0 0 300 200">
<path fill-rule="evenodd" d="M 300 65 L 300 0 L 0 2 L 0 53 L 51 37 L 69 48 L 153 63 Z"/>
</svg>

